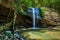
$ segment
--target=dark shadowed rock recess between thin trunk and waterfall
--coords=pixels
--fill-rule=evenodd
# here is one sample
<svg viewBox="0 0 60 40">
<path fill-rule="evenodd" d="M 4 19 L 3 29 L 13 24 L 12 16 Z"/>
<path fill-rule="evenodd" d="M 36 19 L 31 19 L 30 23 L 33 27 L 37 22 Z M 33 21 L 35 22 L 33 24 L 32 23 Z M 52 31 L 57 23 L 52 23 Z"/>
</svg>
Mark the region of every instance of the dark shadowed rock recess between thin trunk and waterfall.
<svg viewBox="0 0 60 40">
<path fill-rule="evenodd" d="M 32 27 L 32 18 L 27 15 L 17 15 L 15 26 Z"/>
</svg>

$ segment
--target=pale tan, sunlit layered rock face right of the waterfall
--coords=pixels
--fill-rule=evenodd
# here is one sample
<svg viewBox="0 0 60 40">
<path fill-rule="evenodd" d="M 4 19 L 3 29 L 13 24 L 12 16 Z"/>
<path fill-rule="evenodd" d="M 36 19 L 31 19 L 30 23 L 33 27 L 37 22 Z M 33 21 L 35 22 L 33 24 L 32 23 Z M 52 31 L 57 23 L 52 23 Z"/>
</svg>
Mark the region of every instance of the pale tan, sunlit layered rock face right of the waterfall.
<svg viewBox="0 0 60 40">
<path fill-rule="evenodd" d="M 44 19 L 49 25 L 60 25 L 60 15 L 53 9 L 46 8 Z"/>
</svg>

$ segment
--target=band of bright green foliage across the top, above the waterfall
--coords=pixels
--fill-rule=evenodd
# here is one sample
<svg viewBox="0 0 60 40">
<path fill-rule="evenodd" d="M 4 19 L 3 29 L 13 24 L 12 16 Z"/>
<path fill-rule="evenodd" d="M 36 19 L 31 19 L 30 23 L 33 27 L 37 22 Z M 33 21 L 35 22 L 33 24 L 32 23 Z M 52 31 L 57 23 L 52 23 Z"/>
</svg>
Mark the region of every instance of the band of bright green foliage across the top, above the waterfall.
<svg viewBox="0 0 60 40">
<path fill-rule="evenodd" d="M 16 12 L 27 14 L 25 10 L 32 7 L 51 7 L 54 9 L 60 9 L 60 0 L 15 0 L 13 7 Z M 59 11 L 59 10 L 58 10 Z"/>
</svg>

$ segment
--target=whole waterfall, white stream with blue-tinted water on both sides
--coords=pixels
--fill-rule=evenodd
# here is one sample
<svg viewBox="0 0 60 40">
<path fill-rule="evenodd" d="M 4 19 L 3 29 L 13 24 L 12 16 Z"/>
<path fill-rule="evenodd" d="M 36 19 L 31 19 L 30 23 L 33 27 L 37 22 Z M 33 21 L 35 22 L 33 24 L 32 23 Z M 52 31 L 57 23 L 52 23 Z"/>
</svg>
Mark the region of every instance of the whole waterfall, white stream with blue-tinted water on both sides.
<svg viewBox="0 0 60 40">
<path fill-rule="evenodd" d="M 37 29 L 38 28 L 38 20 L 40 19 L 39 8 L 30 8 L 30 9 L 28 9 L 28 12 L 30 12 L 30 14 L 32 15 L 32 18 L 33 18 L 32 29 Z"/>
</svg>

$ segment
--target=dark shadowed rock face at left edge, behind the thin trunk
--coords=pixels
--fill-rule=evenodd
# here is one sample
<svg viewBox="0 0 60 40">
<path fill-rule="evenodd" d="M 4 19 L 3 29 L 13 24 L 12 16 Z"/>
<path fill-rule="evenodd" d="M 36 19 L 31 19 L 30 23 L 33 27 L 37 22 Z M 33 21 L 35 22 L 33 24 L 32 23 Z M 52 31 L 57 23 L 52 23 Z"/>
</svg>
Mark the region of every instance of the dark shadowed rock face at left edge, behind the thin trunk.
<svg viewBox="0 0 60 40">
<path fill-rule="evenodd" d="M 0 30 L 8 29 L 11 26 L 13 11 L 0 4 Z"/>
</svg>

